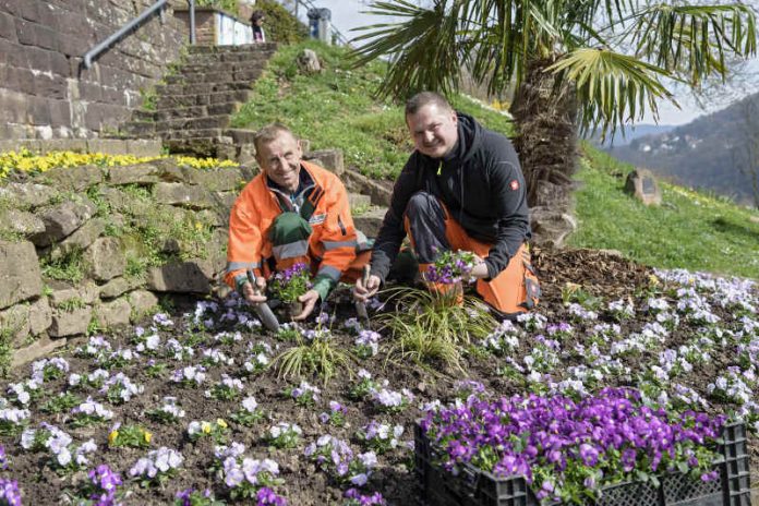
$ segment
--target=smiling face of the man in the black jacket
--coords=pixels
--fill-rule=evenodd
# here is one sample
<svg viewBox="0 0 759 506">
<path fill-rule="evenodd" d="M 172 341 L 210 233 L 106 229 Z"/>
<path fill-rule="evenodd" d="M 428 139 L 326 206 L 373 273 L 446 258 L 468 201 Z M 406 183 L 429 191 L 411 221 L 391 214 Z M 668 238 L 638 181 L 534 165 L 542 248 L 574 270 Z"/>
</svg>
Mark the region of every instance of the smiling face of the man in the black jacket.
<svg viewBox="0 0 759 506">
<path fill-rule="evenodd" d="M 417 149 L 432 158 L 442 158 L 456 145 L 458 140 L 458 118 L 456 111 L 448 111 L 427 104 L 414 115 L 406 117 Z"/>
</svg>

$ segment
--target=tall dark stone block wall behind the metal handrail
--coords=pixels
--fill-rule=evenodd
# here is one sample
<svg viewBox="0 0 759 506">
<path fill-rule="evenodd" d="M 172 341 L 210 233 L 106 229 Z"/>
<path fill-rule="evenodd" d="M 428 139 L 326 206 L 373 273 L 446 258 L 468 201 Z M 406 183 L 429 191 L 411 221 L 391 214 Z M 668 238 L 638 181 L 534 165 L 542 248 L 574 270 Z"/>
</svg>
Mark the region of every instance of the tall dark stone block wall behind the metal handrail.
<svg viewBox="0 0 759 506">
<path fill-rule="evenodd" d="M 189 34 L 169 8 L 86 70 L 83 56 L 153 0 L 0 0 L 0 138 L 116 132 Z M 177 2 L 181 5 L 183 2 Z"/>
</svg>

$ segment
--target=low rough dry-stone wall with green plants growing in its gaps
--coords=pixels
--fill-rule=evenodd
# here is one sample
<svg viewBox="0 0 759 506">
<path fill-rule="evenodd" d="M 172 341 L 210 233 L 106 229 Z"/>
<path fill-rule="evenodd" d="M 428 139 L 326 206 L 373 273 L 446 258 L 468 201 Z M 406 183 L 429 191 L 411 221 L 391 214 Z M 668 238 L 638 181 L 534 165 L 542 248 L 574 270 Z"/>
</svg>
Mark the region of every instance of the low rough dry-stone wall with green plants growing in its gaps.
<svg viewBox="0 0 759 506">
<path fill-rule="evenodd" d="M 14 361 L 134 322 L 161 293 L 225 294 L 229 209 L 252 177 L 160 159 L 0 185 L 0 336 Z"/>
</svg>

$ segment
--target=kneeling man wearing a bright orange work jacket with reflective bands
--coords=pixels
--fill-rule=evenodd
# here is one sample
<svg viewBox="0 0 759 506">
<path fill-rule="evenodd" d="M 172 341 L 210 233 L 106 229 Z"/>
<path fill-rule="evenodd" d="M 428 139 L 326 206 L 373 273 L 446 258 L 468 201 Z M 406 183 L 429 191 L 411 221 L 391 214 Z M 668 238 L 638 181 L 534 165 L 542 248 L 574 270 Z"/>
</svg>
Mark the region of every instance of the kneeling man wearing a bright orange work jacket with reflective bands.
<svg viewBox="0 0 759 506">
<path fill-rule="evenodd" d="M 251 303 L 266 301 L 266 279 L 297 263 L 311 265 L 313 287 L 300 297 L 306 318 L 339 280 L 352 282 L 369 262 L 359 246 L 348 193 L 334 173 L 301 160 L 300 142 L 280 123 L 254 140 L 262 172 L 245 185 L 229 218 L 225 280 Z M 246 272 L 255 274 L 257 293 Z"/>
</svg>

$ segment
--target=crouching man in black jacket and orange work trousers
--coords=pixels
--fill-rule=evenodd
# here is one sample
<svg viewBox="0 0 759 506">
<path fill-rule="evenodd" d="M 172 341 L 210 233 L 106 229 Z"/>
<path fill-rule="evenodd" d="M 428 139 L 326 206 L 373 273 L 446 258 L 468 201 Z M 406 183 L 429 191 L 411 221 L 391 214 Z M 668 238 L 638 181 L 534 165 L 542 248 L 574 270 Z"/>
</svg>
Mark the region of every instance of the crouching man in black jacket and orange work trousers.
<svg viewBox="0 0 759 506">
<path fill-rule="evenodd" d="M 540 288 L 526 246 L 525 177 L 510 141 L 431 92 L 408 100 L 406 122 L 417 149 L 396 180 L 357 299 L 378 290 L 408 233 L 421 272 L 442 251 L 472 251 L 472 276 L 487 303 L 507 314 L 531 309 Z"/>
</svg>

